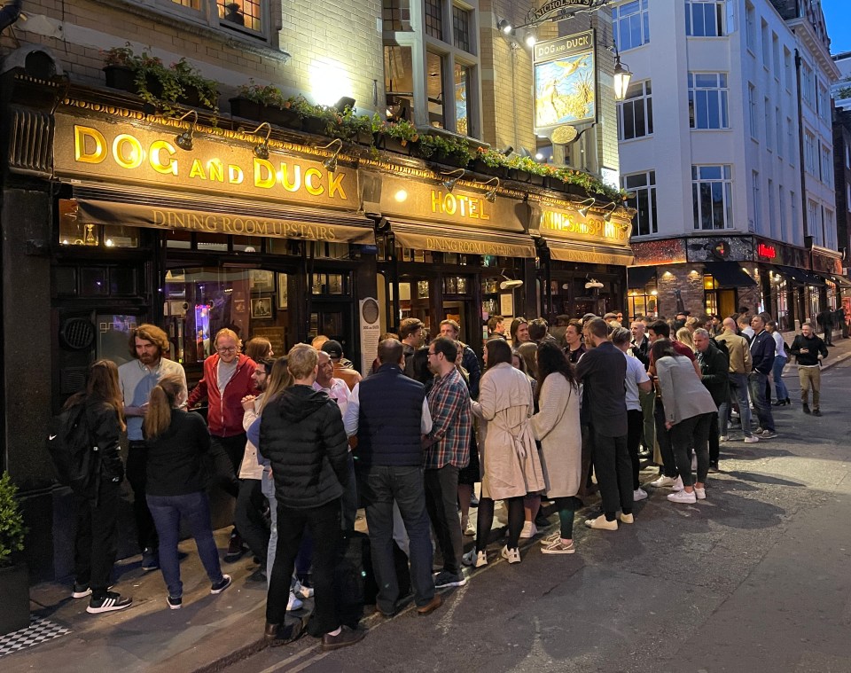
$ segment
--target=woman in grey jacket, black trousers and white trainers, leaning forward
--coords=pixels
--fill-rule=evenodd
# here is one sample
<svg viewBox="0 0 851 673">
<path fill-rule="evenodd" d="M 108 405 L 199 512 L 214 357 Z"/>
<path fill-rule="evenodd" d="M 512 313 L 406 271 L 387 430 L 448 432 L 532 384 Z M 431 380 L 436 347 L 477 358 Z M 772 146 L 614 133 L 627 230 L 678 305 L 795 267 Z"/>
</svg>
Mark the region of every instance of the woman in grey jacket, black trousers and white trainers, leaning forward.
<svg viewBox="0 0 851 673">
<path fill-rule="evenodd" d="M 683 482 L 674 486 L 668 500 L 674 503 L 693 503 L 707 497 L 706 481 L 709 472 L 709 427 L 717 407 L 707 387 L 694 375 L 694 365 L 685 356 L 678 356 L 667 339 L 653 344 L 652 359 L 665 407 L 665 426 L 670 431 L 676 469 Z M 691 450 L 698 457 L 698 478 L 691 475 Z"/>
</svg>

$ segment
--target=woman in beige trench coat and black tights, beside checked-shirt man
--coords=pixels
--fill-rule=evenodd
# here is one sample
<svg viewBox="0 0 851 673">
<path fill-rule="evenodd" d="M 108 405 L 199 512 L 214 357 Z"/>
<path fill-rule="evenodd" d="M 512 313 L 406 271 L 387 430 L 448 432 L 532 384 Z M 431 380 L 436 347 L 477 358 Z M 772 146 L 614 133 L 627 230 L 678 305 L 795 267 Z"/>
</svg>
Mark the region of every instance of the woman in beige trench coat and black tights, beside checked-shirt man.
<svg viewBox="0 0 851 673">
<path fill-rule="evenodd" d="M 502 339 L 485 344 L 485 366 L 479 401 L 472 402 L 480 424 L 481 497 L 476 530 L 476 549 L 465 555 L 467 565 L 488 563 L 485 548 L 494 521 L 494 501 L 508 505 L 508 544 L 502 555 L 509 563 L 519 563 L 517 548 L 523 528 L 523 497 L 544 489 L 541 459 L 535 447 L 532 417 L 532 387 L 523 372 L 511 364 L 511 347 Z"/>
</svg>

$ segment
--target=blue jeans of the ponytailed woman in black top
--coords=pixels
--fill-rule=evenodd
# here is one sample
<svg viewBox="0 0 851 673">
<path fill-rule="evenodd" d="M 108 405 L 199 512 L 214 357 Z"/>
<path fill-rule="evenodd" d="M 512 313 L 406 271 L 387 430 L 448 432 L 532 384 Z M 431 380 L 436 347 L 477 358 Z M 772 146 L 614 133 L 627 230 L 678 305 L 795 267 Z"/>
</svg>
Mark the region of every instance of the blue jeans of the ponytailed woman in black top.
<svg viewBox="0 0 851 673">
<path fill-rule="evenodd" d="M 183 496 L 146 496 L 153 523 L 160 536 L 160 568 L 166 581 L 168 595 L 183 596 L 180 581 L 180 563 L 177 560 L 177 543 L 180 541 L 180 521 L 184 520 L 195 539 L 198 555 L 211 583 L 223 579 L 219 565 L 219 551 L 215 548 L 213 528 L 210 523 L 210 503 L 203 491 Z"/>
</svg>

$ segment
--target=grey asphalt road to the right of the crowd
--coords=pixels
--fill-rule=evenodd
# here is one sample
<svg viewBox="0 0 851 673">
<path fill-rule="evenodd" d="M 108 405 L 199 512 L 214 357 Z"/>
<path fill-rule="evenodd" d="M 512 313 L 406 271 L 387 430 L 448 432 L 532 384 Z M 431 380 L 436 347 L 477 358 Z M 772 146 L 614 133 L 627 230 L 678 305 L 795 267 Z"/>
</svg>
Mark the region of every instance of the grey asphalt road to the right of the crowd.
<svg viewBox="0 0 851 673">
<path fill-rule="evenodd" d="M 573 556 L 535 543 L 519 566 L 492 560 L 428 617 L 371 617 L 357 646 L 303 638 L 228 670 L 851 671 L 849 367 L 824 372 L 821 419 L 786 378 L 780 436 L 722 445 L 706 501 L 674 505 L 662 489 L 634 526 L 578 526 Z"/>
</svg>

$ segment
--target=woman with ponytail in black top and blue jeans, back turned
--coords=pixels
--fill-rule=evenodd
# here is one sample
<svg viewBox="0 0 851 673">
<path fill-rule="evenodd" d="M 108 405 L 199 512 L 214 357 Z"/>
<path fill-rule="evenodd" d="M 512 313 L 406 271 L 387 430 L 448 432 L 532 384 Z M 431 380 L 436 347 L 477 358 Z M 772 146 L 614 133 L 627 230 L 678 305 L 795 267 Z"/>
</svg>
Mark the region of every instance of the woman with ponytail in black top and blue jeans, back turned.
<svg viewBox="0 0 851 673">
<path fill-rule="evenodd" d="M 230 575 L 222 574 L 210 523 L 210 504 L 204 491 L 201 459 L 210 450 L 207 425 L 196 413 L 178 407 L 183 403 L 183 379 L 166 374 L 152 389 L 144 417 L 144 437 L 148 443 L 148 509 L 160 536 L 160 568 L 168 587 L 168 607 L 183 605 L 183 583 L 177 560 L 180 520 L 186 521 L 198 555 L 212 586 L 210 593 L 222 593 L 230 586 Z"/>
</svg>

